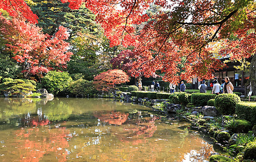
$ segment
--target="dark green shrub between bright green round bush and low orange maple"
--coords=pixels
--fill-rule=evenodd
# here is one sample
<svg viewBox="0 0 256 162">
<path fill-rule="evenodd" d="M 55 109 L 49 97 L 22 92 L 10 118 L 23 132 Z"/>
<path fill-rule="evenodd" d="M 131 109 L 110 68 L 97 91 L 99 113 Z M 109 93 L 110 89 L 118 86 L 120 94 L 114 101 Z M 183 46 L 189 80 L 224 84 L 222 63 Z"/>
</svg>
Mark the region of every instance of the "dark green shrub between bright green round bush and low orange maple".
<svg viewBox="0 0 256 162">
<path fill-rule="evenodd" d="M 72 96 L 93 96 L 96 93 L 96 89 L 94 88 L 93 81 L 88 81 L 84 79 L 78 79 L 70 84 L 68 87 L 68 92 Z"/>
</svg>

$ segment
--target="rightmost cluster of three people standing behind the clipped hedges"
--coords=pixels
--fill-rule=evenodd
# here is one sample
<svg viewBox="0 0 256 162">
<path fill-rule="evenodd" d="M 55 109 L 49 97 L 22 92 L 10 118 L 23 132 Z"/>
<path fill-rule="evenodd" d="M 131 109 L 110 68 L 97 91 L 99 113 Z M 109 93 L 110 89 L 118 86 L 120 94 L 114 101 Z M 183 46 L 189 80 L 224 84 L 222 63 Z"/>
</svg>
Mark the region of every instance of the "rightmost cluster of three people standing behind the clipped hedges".
<svg viewBox="0 0 256 162">
<path fill-rule="evenodd" d="M 210 83 L 212 94 L 218 95 L 222 93 L 233 93 L 234 86 L 227 76 L 221 80 L 221 83 L 222 84 L 220 85 L 217 78 L 214 78 L 214 80 Z M 198 89 L 200 90 L 200 93 L 206 93 L 207 85 L 205 84 L 204 80 L 202 81 L 202 84 L 198 86 Z"/>
</svg>

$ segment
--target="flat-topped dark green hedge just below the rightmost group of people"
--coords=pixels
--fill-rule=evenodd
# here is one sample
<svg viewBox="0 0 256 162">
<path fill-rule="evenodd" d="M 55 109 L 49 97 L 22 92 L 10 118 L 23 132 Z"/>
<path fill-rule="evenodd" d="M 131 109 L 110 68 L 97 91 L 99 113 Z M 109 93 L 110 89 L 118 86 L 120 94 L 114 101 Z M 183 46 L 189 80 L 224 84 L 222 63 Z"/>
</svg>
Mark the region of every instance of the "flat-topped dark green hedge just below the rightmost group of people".
<svg viewBox="0 0 256 162">
<path fill-rule="evenodd" d="M 195 106 L 206 106 L 207 102 L 210 99 L 214 99 L 216 94 L 207 94 L 207 93 L 193 93 L 191 95 L 191 102 Z"/>
</svg>

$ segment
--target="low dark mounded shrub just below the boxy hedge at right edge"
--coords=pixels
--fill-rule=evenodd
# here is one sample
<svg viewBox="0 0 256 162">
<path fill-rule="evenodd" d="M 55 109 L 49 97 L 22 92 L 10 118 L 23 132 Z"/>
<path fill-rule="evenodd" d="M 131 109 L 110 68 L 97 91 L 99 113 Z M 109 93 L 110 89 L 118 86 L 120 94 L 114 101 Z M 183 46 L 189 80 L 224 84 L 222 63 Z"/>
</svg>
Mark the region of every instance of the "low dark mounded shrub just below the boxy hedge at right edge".
<svg viewBox="0 0 256 162">
<path fill-rule="evenodd" d="M 252 125 L 247 120 L 226 120 L 226 128 L 233 133 L 247 133 Z"/>
</svg>

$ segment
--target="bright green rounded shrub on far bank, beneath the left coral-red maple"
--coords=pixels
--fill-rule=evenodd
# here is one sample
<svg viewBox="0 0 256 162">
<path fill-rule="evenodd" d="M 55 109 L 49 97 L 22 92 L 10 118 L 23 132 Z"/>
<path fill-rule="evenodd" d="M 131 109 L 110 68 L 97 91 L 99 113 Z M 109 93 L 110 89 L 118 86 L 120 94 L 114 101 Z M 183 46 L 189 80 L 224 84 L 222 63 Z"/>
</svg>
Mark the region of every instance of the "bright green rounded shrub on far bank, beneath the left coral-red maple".
<svg viewBox="0 0 256 162">
<path fill-rule="evenodd" d="M 68 72 L 50 71 L 42 78 L 43 86 L 52 94 L 64 92 L 71 82 Z"/>
</svg>

